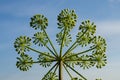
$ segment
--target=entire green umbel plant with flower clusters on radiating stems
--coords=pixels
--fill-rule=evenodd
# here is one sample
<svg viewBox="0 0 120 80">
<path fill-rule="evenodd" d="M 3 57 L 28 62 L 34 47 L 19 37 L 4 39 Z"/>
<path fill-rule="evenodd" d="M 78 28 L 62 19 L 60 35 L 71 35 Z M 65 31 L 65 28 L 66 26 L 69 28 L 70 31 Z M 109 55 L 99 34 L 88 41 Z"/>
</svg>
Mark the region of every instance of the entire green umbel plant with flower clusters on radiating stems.
<svg viewBox="0 0 120 80">
<path fill-rule="evenodd" d="M 33 64 L 39 64 L 44 68 L 51 67 L 44 75 L 42 80 L 63 80 L 63 69 L 68 73 L 71 80 L 89 80 L 84 77 L 74 66 L 79 66 L 83 69 L 92 67 L 102 68 L 107 64 L 106 58 L 106 41 L 102 36 L 96 36 L 96 25 L 90 20 L 81 22 L 78 27 L 76 39 L 72 42 L 71 31 L 76 26 L 77 15 L 74 10 L 64 9 L 57 17 L 59 33 L 56 34 L 56 42 L 60 47 L 56 50 L 55 45 L 51 41 L 46 32 L 48 26 L 48 19 L 42 15 L 37 14 L 31 17 L 30 27 L 36 32 L 33 37 L 20 36 L 14 42 L 17 57 L 16 66 L 21 71 L 28 71 Z M 40 51 L 32 47 L 45 47 L 48 51 Z M 63 48 L 67 47 L 66 51 Z M 74 52 L 76 48 L 83 48 Z M 88 49 L 86 49 L 88 48 Z M 28 54 L 28 52 L 38 53 L 37 60 Z M 63 53 L 64 52 L 64 53 Z M 72 76 L 73 71 L 78 76 Z"/>
</svg>

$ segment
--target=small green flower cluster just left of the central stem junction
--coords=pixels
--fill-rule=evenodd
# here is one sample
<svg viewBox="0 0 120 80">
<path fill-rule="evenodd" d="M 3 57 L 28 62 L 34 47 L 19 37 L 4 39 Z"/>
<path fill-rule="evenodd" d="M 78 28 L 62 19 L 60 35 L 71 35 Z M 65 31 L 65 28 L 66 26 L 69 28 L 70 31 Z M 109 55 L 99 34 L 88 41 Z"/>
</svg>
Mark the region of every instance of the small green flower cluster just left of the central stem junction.
<svg viewBox="0 0 120 80">
<path fill-rule="evenodd" d="M 45 54 L 47 55 L 50 55 L 49 53 L 47 52 L 44 52 Z M 40 61 L 40 65 L 43 66 L 43 67 L 50 67 L 51 64 L 52 64 L 52 60 L 53 58 L 49 57 L 49 56 L 45 56 L 45 55 L 42 55 L 40 54 L 39 57 L 38 57 L 38 60 Z"/>
</svg>

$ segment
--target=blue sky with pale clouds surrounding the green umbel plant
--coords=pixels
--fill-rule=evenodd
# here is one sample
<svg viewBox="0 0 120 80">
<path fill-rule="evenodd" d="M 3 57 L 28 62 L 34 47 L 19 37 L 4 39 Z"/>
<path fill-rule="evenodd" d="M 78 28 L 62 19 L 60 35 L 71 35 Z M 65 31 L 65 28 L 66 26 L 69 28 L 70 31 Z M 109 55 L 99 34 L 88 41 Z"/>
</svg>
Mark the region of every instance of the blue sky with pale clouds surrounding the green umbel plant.
<svg viewBox="0 0 120 80">
<path fill-rule="evenodd" d="M 88 80 L 120 80 L 120 0 L 0 0 L 0 80 L 42 78 L 48 69 L 39 65 L 33 65 L 27 72 L 17 69 L 18 54 L 13 43 L 20 35 L 35 33 L 29 27 L 30 18 L 35 14 L 44 14 L 48 18 L 47 32 L 55 42 L 55 34 L 59 31 L 57 15 L 66 8 L 74 9 L 78 15 L 76 29 L 82 21 L 89 19 L 97 25 L 96 35 L 107 41 L 107 65 L 102 69 L 80 69 L 80 72 Z"/>
</svg>

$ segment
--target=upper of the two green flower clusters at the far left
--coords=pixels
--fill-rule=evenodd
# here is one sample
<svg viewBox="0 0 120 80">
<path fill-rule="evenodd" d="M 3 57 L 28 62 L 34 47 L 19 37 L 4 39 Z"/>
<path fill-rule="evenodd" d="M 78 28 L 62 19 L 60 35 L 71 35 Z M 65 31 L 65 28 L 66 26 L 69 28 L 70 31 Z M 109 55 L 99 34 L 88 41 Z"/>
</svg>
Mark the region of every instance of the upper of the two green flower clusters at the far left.
<svg viewBox="0 0 120 80">
<path fill-rule="evenodd" d="M 31 39 L 29 37 L 20 36 L 14 42 L 14 47 L 20 55 L 26 51 L 29 51 L 29 49 L 26 48 L 26 46 L 31 46 Z"/>
</svg>

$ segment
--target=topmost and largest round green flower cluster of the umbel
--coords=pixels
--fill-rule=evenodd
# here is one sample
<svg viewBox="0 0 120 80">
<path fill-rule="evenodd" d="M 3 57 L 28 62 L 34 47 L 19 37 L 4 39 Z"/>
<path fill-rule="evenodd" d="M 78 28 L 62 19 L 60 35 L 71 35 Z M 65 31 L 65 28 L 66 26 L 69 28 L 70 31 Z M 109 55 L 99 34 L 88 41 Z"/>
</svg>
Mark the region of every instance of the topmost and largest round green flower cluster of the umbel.
<svg viewBox="0 0 120 80">
<path fill-rule="evenodd" d="M 72 29 L 76 25 L 77 15 L 74 10 L 64 9 L 58 15 L 58 28 Z"/>
</svg>

